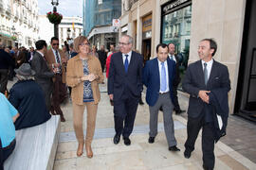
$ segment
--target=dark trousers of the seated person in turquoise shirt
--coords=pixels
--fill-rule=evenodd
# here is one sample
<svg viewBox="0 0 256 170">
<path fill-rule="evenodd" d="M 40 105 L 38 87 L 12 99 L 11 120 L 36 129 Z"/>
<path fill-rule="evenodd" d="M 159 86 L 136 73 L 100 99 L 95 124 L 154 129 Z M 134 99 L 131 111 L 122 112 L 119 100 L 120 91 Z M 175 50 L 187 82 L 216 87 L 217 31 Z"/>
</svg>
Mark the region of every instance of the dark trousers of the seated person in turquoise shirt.
<svg viewBox="0 0 256 170">
<path fill-rule="evenodd" d="M 8 146 L 2 148 L 2 142 L 0 140 L 0 170 L 4 170 L 4 162 L 9 158 L 9 155 L 13 152 L 16 145 L 14 139 Z"/>
</svg>

